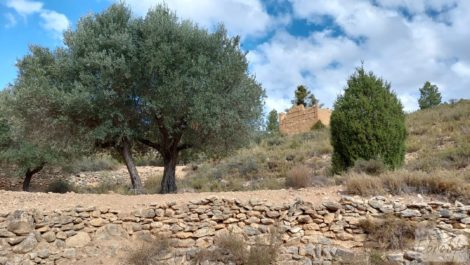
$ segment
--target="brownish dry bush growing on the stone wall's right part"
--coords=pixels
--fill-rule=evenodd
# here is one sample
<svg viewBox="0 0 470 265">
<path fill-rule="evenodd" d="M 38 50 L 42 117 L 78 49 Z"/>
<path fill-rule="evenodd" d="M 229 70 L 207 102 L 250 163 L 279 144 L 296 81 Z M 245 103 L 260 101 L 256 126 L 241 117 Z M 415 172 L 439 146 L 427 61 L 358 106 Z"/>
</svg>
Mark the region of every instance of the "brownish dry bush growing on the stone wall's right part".
<svg viewBox="0 0 470 265">
<path fill-rule="evenodd" d="M 359 223 L 379 249 L 405 249 L 415 239 L 415 223 L 387 215 L 383 219 L 365 219 Z"/>
</svg>

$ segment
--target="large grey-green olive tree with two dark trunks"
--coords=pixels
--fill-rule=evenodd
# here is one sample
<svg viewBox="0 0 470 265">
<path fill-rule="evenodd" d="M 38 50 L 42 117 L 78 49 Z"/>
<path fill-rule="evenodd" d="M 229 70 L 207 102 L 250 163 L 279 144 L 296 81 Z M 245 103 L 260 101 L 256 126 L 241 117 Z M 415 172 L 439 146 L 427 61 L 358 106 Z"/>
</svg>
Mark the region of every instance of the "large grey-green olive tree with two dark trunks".
<svg viewBox="0 0 470 265">
<path fill-rule="evenodd" d="M 223 27 L 208 32 L 164 6 L 133 17 L 114 4 L 80 19 L 64 44 L 32 47 L 20 60 L 18 115 L 65 142 L 119 151 L 136 190 L 137 142 L 162 156 L 168 193 L 181 151 L 227 152 L 261 126 L 264 91 L 248 74 L 239 38 Z M 35 120 L 39 112 L 48 120 Z"/>
</svg>

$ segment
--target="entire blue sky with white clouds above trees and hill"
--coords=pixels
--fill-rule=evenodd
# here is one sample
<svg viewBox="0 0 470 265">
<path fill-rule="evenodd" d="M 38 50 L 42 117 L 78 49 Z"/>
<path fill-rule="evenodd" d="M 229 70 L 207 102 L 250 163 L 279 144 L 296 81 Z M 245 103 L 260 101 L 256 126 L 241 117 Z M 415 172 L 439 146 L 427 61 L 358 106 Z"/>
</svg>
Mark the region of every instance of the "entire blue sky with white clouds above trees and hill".
<svg viewBox="0 0 470 265">
<path fill-rule="evenodd" d="M 0 0 L 0 89 L 28 45 L 62 45 L 61 32 L 113 0 Z M 136 16 L 161 0 L 125 0 Z M 242 37 L 266 109 L 283 111 L 304 84 L 331 107 L 354 68 L 391 82 L 407 111 L 429 80 L 444 100 L 470 98 L 468 0 L 167 0 L 179 17 Z"/>
</svg>

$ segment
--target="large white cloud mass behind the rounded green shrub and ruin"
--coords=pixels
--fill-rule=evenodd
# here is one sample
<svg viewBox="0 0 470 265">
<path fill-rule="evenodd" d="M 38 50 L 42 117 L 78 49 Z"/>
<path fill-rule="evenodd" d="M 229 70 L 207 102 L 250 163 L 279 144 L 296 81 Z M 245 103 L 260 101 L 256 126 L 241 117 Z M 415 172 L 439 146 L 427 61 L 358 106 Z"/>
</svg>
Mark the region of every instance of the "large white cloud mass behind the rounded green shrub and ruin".
<svg viewBox="0 0 470 265">
<path fill-rule="evenodd" d="M 282 111 L 299 84 L 331 107 L 361 60 L 391 82 L 407 111 L 417 108 L 418 88 L 427 80 L 439 86 L 444 100 L 470 98 L 470 1 L 290 2 L 295 18 L 319 23 L 328 16 L 345 36 L 324 30 L 294 37 L 280 29 L 251 51 L 251 69 L 273 97 L 269 108 Z M 443 13 L 430 17 L 430 9 Z"/>
</svg>

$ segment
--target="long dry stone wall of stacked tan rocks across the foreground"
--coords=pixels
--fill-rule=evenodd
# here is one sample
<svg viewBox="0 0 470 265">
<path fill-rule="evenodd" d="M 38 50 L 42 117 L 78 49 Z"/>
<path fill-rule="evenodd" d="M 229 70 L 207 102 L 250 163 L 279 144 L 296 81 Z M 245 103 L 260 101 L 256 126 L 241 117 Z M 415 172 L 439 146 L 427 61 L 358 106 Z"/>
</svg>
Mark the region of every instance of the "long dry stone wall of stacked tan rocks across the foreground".
<svg viewBox="0 0 470 265">
<path fill-rule="evenodd" d="M 405 204 L 349 196 L 322 205 L 210 197 L 153 204 L 130 213 L 84 206 L 51 212 L 17 210 L 0 214 L 0 264 L 90 264 L 80 262 L 124 257 L 137 242 L 155 237 L 173 239 L 173 251 L 162 255 L 159 264 L 191 264 L 198 251 L 214 248 L 214 239 L 223 233 L 243 235 L 247 244 L 254 244 L 266 239 L 274 226 L 282 239 L 277 264 L 352 264 L 360 259 L 363 263 L 355 264 L 366 264 L 363 247 L 369 239 L 359 222 L 386 214 L 433 220 L 431 237 L 439 238 L 446 253 L 461 254 L 468 247 L 469 212 L 470 206 L 458 202 Z M 423 264 L 426 247 L 389 253 L 387 258 L 392 264 Z"/>
</svg>

